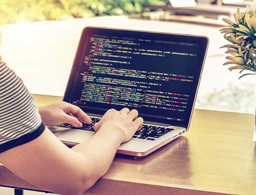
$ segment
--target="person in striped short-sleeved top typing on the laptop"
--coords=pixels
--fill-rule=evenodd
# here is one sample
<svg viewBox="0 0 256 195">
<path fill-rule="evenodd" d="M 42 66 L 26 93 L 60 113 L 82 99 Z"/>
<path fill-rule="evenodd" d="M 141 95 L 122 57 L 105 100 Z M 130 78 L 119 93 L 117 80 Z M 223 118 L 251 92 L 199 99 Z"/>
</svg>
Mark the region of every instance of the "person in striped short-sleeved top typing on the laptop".
<svg viewBox="0 0 256 195">
<path fill-rule="evenodd" d="M 91 119 L 67 102 L 36 107 L 22 80 L 0 59 L 0 162 L 17 176 L 58 194 L 81 194 L 110 166 L 118 146 L 140 129 L 135 109 L 109 109 L 96 133 L 67 147 L 46 127 Z M 45 126 L 46 125 L 46 126 Z"/>
</svg>

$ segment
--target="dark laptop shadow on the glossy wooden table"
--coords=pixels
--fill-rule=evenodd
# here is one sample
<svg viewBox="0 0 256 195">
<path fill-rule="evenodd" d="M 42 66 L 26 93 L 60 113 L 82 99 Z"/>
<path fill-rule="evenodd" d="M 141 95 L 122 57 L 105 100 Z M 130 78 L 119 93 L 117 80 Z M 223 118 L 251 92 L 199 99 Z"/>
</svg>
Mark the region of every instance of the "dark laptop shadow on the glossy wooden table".
<svg viewBox="0 0 256 195">
<path fill-rule="evenodd" d="M 116 154 L 114 161 L 120 162 L 125 169 L 135 169 L 141 174 L 161 175 L 170 182 L 175 178 L 178 183 L 191 184 L 184 183 L 191 177 L 189 143 L 184 136 L 178 137 L 147 156 L 133 157 Z"/>
</svg>

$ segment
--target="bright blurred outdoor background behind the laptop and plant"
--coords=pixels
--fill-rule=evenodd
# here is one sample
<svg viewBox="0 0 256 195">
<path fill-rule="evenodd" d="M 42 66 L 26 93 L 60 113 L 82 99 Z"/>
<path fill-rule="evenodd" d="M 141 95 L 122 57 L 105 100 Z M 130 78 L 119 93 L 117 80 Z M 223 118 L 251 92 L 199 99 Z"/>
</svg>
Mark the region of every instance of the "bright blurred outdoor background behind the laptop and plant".
<svg viewBox="0 0 256 195">
<path fill-rule="evenodd" d="M 255 76 L 229 72 L 219 29 L 252 0 L 0 0 L 0 54 L 34 94 L 64 93 L 87 25 L 207 35 L 195 108 L 253 113 Z M 189 6 L 188 6 L 189 5 Z"/>
</svg>

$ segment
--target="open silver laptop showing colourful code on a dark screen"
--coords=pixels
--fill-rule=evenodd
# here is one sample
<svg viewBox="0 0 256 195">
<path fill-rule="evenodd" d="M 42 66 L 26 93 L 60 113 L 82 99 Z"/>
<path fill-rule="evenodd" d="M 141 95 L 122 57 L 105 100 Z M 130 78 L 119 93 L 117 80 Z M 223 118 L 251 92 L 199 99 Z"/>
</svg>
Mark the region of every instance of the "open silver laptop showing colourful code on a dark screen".
<svg viewBox="0 0 256 195">
<path fill-rule="evenodd" d="M 206 36 L 85 27 L 63 101 L 92 124 L 62 124 L 55 135 L 78 144 L 93 136 L 106 110 L 128 107 L 144 124 L 117 153 L 145 156 L 176 139 L 188 130 L 207 47 Z"/>
</svg>

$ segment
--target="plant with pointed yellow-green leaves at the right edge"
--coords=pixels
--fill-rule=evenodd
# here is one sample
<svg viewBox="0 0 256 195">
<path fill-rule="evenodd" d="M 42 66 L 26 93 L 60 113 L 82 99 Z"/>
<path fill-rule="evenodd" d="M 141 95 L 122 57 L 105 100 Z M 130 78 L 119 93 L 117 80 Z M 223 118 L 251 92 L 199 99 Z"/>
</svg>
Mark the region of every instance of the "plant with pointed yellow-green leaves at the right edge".
<svg viewBox="0 0 256 195">
<path fill-rule="evenodd" d="M 221 48 L 227 48 L 225 53 L 229 61 L 223 65 L 232 64 L 228 69 L 239 69 L 239 73 L 244 72 L 239 78 L 256 74 L 256 4 L 249 5 L 246 11 L 240 12 L 237 8 L 233 14 L 234 22 L 224 18 L 223 21 L 228 24 L 227 27 L 220 29 L 224 33 L 224 38 L 231 44 L 226 44 Z M 256 116 L 256 114 L 255 114 Z M 256 142 L 256 117 L 254 121 L 253 141 Z"/>
</svg>

